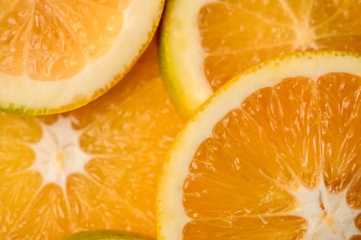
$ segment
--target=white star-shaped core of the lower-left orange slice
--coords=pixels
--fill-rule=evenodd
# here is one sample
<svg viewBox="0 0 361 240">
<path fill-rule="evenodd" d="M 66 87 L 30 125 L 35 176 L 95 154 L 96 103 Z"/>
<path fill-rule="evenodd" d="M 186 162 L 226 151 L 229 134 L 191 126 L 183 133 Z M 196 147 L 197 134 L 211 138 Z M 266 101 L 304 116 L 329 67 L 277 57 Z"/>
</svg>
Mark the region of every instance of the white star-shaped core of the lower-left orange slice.
<svg viewBox="0 0 361 240">
<path fill-rule="evenodd" d="M 43 177 L 43 186 L 57 184 L 67 193 L 67 177 L 73 173 L 86 174 L 84 165 L 93 158 L 79 145 L 82 130 L 74 130 L 73 119 L 59 117 L 51 125 L 41 123 L 42 138 L 37 143 L 29 144 L 35 154 L 35 161 L 29 168 Z"/>
</svg>

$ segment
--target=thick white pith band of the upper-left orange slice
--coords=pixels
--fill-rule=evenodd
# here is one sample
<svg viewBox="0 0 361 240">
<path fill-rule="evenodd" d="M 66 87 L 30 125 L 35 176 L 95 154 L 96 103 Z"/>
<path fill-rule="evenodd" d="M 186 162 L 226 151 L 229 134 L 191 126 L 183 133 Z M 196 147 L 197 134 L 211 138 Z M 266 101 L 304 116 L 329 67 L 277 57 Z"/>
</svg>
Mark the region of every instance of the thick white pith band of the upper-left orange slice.
<svg viewBox="0 0 361 240">
<path fill-rule="evenodd" d="M 124 10 L 124 23 L 115 43 L 106 55 L 89 60 L 77 75 L 66 80 L 43 82 L 27 75 L 14 76 L 0 72 L 0 107 L 26 109 L 61 108 L 76 99 L 91 99 L 117 75 L 124 73 L 159 21 L 163 0 L 132 0 Z"/>
</svg>

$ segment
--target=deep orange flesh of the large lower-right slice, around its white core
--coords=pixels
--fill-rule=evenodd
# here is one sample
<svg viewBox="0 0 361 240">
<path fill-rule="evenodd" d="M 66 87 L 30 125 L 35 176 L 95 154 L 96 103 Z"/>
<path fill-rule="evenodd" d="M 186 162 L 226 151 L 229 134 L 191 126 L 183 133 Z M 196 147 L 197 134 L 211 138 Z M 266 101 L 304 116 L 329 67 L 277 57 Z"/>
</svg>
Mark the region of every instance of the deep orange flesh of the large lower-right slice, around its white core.
<svg viewBox="0 0 361 240">
<path fill-rule="evenodd" d="M 301 239 L 307 221 L 292 191 L 320 182 L 360 209 L 360 97 L 361 77 L 346 73 L 292 77 L 246 97 L 189 165 L 184 238 Z M 361 230 L 360 215 L 354 222 Z"/>
</svg>

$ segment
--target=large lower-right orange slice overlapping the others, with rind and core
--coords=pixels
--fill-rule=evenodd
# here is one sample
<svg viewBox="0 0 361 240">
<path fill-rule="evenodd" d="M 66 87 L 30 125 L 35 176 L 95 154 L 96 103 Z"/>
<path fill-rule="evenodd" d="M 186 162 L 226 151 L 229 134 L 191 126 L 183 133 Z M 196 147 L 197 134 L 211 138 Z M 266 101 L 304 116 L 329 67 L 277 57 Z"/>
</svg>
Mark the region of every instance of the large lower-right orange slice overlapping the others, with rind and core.
<svg viewBox="0 0 361 240">
<path fill-rule="evenodd" d="M 159 239 L 360 239 L 361 55 L 283 56 L 225 84 L 161 173 Z"/>
</svg>

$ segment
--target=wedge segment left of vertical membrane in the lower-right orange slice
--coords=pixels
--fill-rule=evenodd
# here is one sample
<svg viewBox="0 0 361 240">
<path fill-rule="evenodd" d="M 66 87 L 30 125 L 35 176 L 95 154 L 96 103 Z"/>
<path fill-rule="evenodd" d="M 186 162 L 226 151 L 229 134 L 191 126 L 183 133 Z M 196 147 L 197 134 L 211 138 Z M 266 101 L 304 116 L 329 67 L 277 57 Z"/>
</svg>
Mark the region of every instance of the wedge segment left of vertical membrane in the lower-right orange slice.
<svg viewBox="0 0 361 240">
<path fill-rule="evenodd" d="M 297 81 L 286 80 L 274 88 L 257 91 L 242 102 L 242 110 L 233 110 L 215 126 L 214 138 L 225 151 L 235 151 L 240 164 L 244 159 L 257 159 L 250 163 L 253 169 L 289 189 L 297 189 L 299 184 L 316 186 L 321 170 L 316 152 L 318 129 L 314 125 L 318 120 L 317 106 L 307 101 L 314 95 L 313 85 L 312 80 L 299 77 Z M 300 95 L 304 98 L 296 97 Z M 305 134 L 309 136 L 307 140 Z M 252 141 L 255 137 L 259 142 Z M 260 144 L 264 146 L 261 151 Z M 299 177 L 294 178 L 296 173 Z"/>
</svg>

